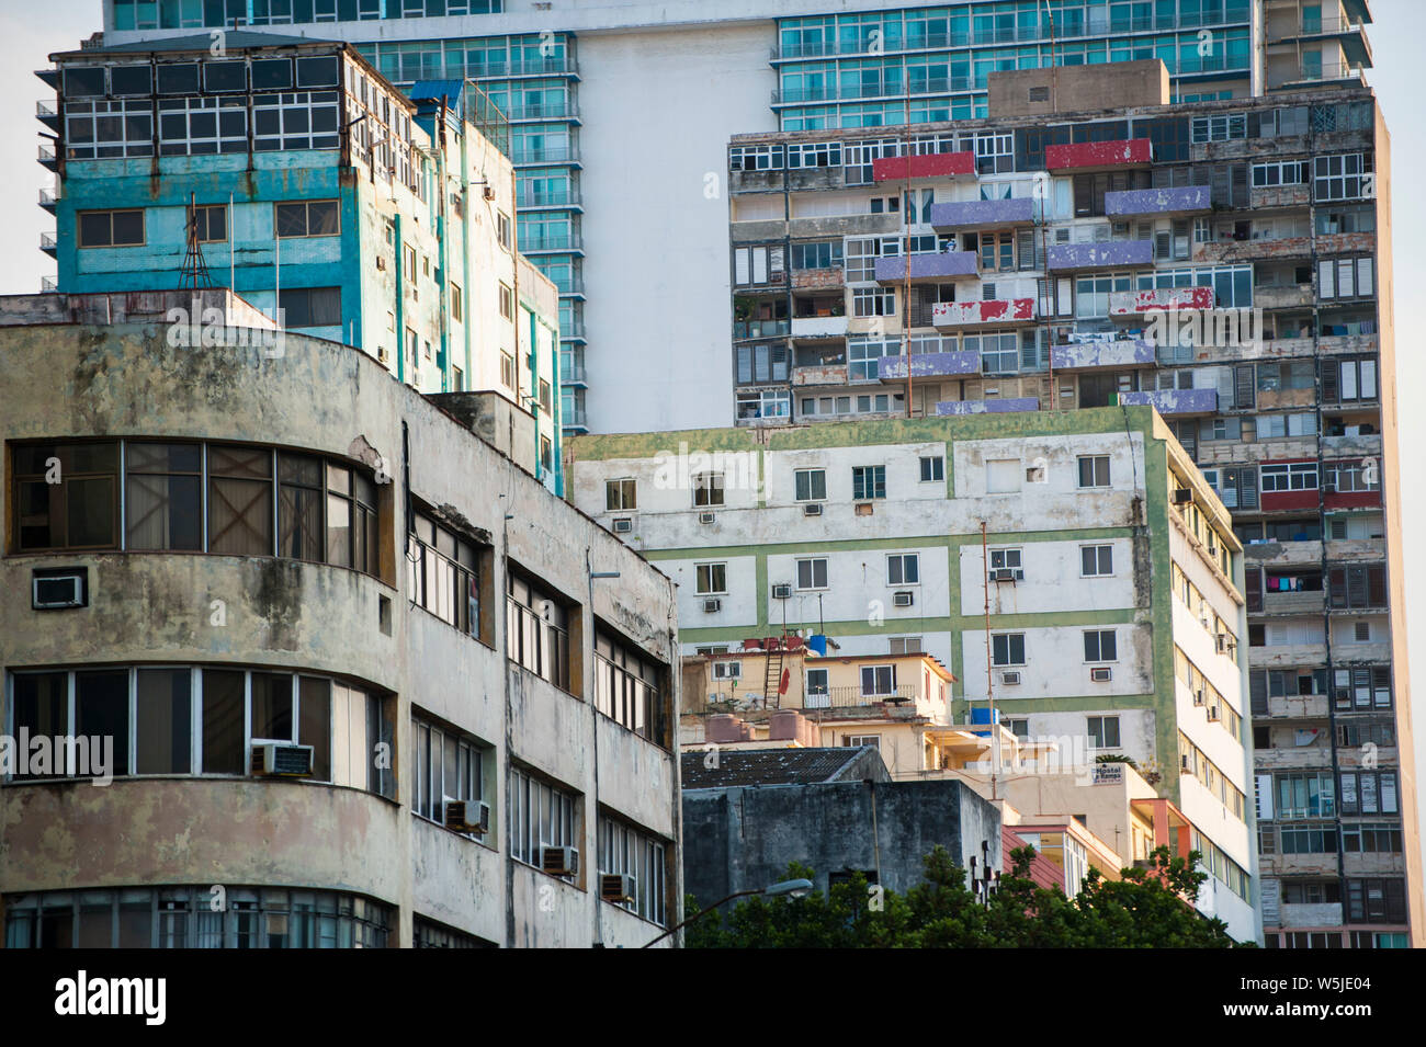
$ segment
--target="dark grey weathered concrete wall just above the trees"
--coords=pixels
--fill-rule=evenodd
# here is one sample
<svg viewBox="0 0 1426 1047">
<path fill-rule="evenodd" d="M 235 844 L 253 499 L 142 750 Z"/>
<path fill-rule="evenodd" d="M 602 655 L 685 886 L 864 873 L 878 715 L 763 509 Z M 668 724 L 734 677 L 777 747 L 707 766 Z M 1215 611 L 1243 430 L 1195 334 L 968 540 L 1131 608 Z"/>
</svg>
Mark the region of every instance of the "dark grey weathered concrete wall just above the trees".
<svg viewBox="0 0 1426 1047">
<path fill-rule="evenodd" d="M 983 840 L 1001 860 L 1000 812 L 957 781 L 690 789 L 683 819 L 684 883 L 702 905 L 786 879 L 790 862 L 811 866 L 820 890 L 829 873 L 880 869 L 904 892 L 937 845 L 965 869 Z"/>
</svg>

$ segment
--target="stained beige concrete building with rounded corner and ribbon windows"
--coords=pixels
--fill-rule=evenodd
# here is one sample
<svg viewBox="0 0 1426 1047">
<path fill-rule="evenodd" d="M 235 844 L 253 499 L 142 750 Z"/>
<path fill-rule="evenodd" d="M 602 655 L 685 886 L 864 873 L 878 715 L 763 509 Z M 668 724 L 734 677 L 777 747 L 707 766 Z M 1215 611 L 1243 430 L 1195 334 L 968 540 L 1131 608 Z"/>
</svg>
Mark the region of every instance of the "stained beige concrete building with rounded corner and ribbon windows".
<svg viewBox="0 0 1426 1047">
<path fill-rule="evenodd" d="M 231 318 L 201 350 L 190 293 Z M 446 409 L 476 393 L 227 289 L 0 318 L 7 947 L 677 923 L 672 584 Z"/>
</svg>

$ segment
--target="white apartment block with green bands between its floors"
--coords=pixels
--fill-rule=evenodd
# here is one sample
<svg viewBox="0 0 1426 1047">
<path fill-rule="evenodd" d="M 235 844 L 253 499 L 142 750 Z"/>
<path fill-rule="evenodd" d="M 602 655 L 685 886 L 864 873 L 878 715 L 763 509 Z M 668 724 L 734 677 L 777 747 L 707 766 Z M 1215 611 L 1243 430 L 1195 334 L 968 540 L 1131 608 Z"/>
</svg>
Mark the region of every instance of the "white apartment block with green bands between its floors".
<svg viewBox="0 0 1426 1047">
<path fill-rule="evenodd" d="M 784 632 L 928 654 L 950 724 L 994 701 L 1156 771 L 1251 903 L 1243 547 L 1149 406 L 583 436 L 566 462 L 575 504 L 677 583 L 684 655 Z"/>
</svg>

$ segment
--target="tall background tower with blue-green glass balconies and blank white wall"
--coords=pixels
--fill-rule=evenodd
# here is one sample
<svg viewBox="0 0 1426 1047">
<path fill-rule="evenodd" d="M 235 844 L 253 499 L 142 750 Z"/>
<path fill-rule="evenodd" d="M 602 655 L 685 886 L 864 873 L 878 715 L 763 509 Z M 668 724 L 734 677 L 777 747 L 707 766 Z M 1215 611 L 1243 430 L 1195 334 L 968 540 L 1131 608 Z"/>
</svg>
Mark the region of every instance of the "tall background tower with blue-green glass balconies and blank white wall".
<svg viewBox="0 0 1426 1047">
<path fill-rule="evenodd" d="M 994 70 L 1158 57 L 1175 98 L 1196 100 L 1359 78 L 1370 66 L 1365 0 L 104 6 L 114 43 L 234 20 L 354 41 L 402 87 L 473 78 L 506 111 L 520 249 L 560 289 L 562 420 L 572 432 L 724 423 L 724 346 L 710 335 L 729 319 L 717 292 L 729 285 L 723 145 L 732 134 L 984 117 Z M 670 245 L 677 264 L 652 272 L 650 245 Z M 709 396 L 674 410 L 669 390 L 684 380 Z"/>
</svg>

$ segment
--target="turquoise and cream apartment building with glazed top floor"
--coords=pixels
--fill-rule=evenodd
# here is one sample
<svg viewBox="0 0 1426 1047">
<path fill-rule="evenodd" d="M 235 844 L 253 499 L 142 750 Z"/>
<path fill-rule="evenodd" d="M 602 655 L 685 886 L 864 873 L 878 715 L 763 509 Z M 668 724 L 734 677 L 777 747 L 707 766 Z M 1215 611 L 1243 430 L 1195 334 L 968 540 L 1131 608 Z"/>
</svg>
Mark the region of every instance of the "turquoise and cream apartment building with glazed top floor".
<svg viewBox="0 0 1426 1047">
<path fill-rule="evenodd" d="M 60 292 L 235 288 L 419 392 L 496 390 L 556 484 L 558 293 L 515 251 L 509 130 L 473 84 L 408 97 L 349 44 L 247 31 L 51 61 Z"/>
</svg>

